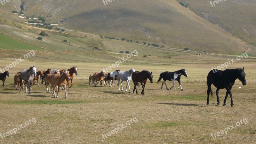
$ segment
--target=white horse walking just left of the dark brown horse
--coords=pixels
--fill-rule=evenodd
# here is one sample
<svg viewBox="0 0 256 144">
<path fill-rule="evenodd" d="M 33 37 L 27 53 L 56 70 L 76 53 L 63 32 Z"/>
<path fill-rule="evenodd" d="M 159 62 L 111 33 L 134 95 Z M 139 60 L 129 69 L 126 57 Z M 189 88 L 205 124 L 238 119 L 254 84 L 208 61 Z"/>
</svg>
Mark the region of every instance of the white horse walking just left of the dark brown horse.
<svg viewBox="0 0 256 144">
<path fill-rule="evenodd" d="M 116 76 L 117 76 L 117 80 L 118 80 L 118 89 L 119 89 L 119 92 L 120 92 L 120 80 L 121 80 L 121 87 L 122 87 L 122 91 L 124 91 L 123 89 L 123 82 L 126 81 L 126 88 L 125 88 L 125 92 L 127 92 L 127 86 L 129 87 L 129 93 L 131 93 L 131 89 L 130 89 L 130 81 L 132 79 L 132 73 L 135 72 L 135 69 L 134 68 L 131 68 L 130 70 L 128 71 L 118 71 Z"/>
</svg>

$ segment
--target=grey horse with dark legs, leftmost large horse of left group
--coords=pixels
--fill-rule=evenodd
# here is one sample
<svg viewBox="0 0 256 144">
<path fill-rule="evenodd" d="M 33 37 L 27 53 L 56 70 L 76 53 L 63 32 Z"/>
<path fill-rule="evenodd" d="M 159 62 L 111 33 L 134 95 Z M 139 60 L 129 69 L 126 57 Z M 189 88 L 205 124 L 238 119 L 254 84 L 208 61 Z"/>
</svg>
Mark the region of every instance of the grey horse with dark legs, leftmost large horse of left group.
<svg viewBox="0 0 256 144">
<path fill-rule="evenodd" d="M 20 93 L 21 93 L 21 86 L 22 80 L 26 82 L 26 93 L 31 94 L 31 84 L 36 76 L 36 66 L 31 66 L 28 70 L 23 69 L 20 71 Z M 28 89 L 29 88 L 29 89 Z"/>
</svg>

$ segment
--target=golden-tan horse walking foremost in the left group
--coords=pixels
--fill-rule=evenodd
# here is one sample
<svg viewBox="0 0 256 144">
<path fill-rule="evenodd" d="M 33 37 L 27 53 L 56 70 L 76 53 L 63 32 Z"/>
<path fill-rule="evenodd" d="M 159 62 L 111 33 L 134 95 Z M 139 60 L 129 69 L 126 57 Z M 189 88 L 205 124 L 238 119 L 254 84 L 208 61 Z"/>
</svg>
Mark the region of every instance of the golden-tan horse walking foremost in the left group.
<svg viewBox="0 0 256 144">
<path fill-rule="evenodd" d="M 64 71 L 61 75 L 60 74 L 54 74 L 52 76 L 52 86 L 53 86 L 53 94 L 52 96 L 58 98 L 58 94 L 60 92 L 60 89 L 58 87 L 64 87 L 65 90 L 65 98 L 67 99 L 67 90 L 66 90 L 66 85 L 67 82 L 70 81 L 70 74 L 68 73 L 68 71 Z M 55 93 L 55 88 L 57 87 L 58 89 L 58 93 L 56 95 Z"/>
</svg>

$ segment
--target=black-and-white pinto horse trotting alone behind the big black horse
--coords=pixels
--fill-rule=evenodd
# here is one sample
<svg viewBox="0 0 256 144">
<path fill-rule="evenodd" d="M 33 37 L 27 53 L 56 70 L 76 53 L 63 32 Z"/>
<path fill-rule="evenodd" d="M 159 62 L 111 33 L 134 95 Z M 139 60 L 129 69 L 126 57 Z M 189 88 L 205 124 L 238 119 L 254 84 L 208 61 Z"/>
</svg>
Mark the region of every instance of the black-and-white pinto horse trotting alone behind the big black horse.
<svg viewBox="0 0 256 144">
<path fill-rule="evenodd" d="M 185 69 L 180 69 L 180 70 L 175 71 L 175 72 L 166 71 L 166 72 L 163 72 L 163 73 L 160 74 L 160 77 L 159 77 L 159 79 L 156 83 L 158 84 L 161 81 L 161 79 L 163 78 L 164 81 L 162 83 L 161 90 L 163 88 L 163 85 L 165 84 L 166 89 L 169 91 L 169 88 L 167 87 L 167 84 L 166 84 L 166 80 L 173 81 L 173 85 L 170 88 L 172 90 L 176 81 L 178 81 L 179 84 L 180 84 L 180 76 L 181 75 L 188 77 L 188 74 L 187 74 Z M 180 84 L 180 90 L 183 91 L 183 89 L 181 87 L 181 84 Z"/>
</svg>

